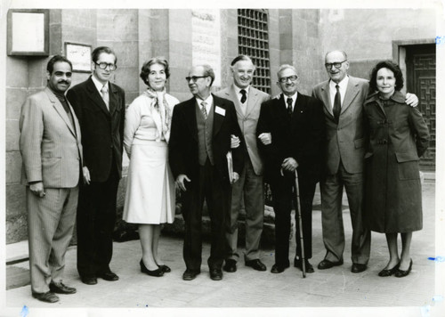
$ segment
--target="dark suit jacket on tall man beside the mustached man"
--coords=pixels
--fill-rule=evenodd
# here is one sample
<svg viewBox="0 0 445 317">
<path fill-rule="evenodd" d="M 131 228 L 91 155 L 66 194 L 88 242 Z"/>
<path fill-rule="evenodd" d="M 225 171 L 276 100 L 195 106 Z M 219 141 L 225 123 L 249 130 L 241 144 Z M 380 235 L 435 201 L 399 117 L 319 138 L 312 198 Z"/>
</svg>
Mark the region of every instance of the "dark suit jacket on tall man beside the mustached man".
<svg viewBox="0 0 445 317">
<path fill-rule="evenodd" d="M 109 110 L 97 91 L 93 79 L 69 89 L 71 102 L 82 130 L 84 164 L 93 182 L 105 182 L 109 177 L 113 155 L 119 177 L 122 175 L 124 144 L 125 92 L 109 83 Z"/>
</svg>

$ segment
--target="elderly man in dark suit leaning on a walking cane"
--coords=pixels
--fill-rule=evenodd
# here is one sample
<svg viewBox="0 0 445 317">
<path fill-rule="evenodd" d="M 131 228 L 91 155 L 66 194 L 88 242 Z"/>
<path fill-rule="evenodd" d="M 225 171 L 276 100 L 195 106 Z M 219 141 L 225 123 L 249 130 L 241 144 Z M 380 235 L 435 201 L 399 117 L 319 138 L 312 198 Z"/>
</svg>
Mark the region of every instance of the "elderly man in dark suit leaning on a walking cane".
<svg viewBox="0 0 445 317">
<path fill-rule="evenodd" d="M 295 171 L 303 223 L 304 265 L 314 272 L 312 257 L 312 200 L 320 180 L 325 130 L 320 101 L 297 92 L 299 78 L 291 65 L 278 71 L 279 99 L 263 102 L 256 128 L 258 148 L 263 154 L 266 182 L 271 184 L 275 212 L 275 264 L 272 273 L 284 272 L 289 264 L 289 235 L 292 202 L 295 207 Z M 295 212 L 295 217 L 298 215 Z M 295 219 L 298 223 L 298 219 Z M 302 270 L 300 232 L 295 234 L 294 266 Z"/>
</svg>

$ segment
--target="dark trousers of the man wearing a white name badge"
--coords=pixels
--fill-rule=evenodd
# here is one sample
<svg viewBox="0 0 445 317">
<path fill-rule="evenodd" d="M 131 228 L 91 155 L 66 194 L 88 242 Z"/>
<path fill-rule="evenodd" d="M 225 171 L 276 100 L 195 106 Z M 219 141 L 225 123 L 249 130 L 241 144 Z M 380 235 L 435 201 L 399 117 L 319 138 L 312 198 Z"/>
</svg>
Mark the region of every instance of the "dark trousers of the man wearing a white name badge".
<svg viewBox="0 0 445 317">
<path fill-rule="evenodd" d="M 187 183 L 183 193 L 182 215 L 185 222 L 183 257 L 187 269 L 200 271 L 202 263 L 202 207 L 206 199 L 211 224 L 210 269 L 221 269 L 226 255 L 225 220 L 231 209 L 231 187 L 224 184 L 216 167 L 208 159 L 199 167 L 198 179 Z"/>
</svg>

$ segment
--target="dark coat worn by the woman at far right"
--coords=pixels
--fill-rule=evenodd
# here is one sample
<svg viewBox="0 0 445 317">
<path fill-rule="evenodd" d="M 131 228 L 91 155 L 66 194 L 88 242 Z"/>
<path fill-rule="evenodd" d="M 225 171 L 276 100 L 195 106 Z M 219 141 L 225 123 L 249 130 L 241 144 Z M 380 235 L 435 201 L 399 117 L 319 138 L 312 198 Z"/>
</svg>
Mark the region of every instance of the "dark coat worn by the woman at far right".
<svg viewBox="0 0 445 317">
<path fill-rule="evenodd" d="M 368 149 L 365 155 L 365 210 L 374 232 L 413 232 L 422 229 L 422 190 L 419 157 L 430 135 L 417 107 L 405 104 L 396 92 L 384 101 L 378 93 L 364 105 Z"/>
</svg>

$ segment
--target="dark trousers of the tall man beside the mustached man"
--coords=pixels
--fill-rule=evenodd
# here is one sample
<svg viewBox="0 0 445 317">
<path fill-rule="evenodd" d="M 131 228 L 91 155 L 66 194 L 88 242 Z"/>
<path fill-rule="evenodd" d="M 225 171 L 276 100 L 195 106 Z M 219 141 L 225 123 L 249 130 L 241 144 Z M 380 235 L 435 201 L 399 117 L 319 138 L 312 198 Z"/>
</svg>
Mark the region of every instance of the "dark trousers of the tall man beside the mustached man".
<svg viewBox="0 0 445 317">
<path fill-rule="evenodd" d="M 118 184 L 119 176 L 113 165 L 107 181 L 80 187 L 77 206 L 77 272 L 80 276 L 109 272 Z"/>
</svg>

